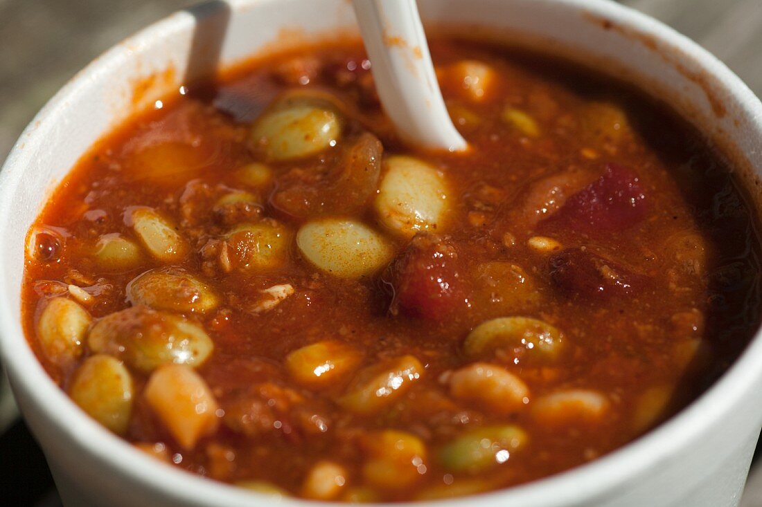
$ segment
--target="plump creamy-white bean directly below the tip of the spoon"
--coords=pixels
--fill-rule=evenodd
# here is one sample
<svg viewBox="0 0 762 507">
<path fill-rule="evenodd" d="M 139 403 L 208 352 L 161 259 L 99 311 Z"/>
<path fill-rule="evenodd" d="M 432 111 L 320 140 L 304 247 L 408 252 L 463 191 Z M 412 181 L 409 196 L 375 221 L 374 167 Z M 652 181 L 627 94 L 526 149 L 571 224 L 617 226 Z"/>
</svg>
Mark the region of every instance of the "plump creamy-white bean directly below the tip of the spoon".
<svg viewBox="0 0 762 507">
<path fill-rule="evenodd" d="M 386 228 L 411 238 L 418 231 L 442 231 L 447 212 L 447 181 L 418 158 L 395 155 L 374 202 L 376 216 Z"/>
</svg>

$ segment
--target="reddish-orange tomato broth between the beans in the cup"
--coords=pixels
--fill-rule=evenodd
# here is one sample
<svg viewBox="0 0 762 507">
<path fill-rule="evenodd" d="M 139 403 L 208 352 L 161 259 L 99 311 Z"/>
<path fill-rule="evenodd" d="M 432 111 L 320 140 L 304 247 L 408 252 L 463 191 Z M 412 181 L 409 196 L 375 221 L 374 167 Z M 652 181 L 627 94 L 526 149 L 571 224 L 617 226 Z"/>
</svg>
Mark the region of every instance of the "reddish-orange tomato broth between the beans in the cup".
<svg viewBox="0 0 762 507">
<path fill-rule="evenodd" d="M 168 97 L 162 110 L 136 116 L 98 142 L 35 224 L 52 231 L 57 246 L 42 236 L 40 255 L 27 255 L 24 327 L 51 377 L 67 390 L 77 366 L 92 353 L 85 346 L 75 364 L 60 365 L 38 343 L 35 323 L 44 301 L 66 295 L 63 285 L 53 282 L 90 288 L 93 302 L 83 306 L 97 320 L 130 306 L 126 287 L 136 276 L 168 265 L 143 252 L 139 266 L 106 273 L 91 257 L 103 234 L 135 238 L 126 212 L 149 206 L 171 218 L 189 246 L 186 256 L 170 264 L 202 279 L 223 301 L 206 314 L 186 312 L 214 343 L 196 371 L 219 404 L 220 423 L 194 448 L 182 448 L 141 396 L 149 374 L 130 368 L 134 401 L 124 438 L 163 442 L 176 466 L 196 474 L 232 483 L 265 480 L 299 496 L 315 463 L 335 461 L 347 470 L 346 486 L 335 496 L 342 499 L 344 490 L 368 485 L 363 467 L 375 452 L 369 439 L 395 429 L 424 442 L 424 469 L 398 489 L 371 485 L 377 499 L 449 495 L 450 483 L 478 493 L 606 454 L 703 392 L 738 356 L 760 321 L 757 225 L 725 158 L 664 104 L 587 70 L 447 38 L 434 38 L 431 53 L 450 110 L 465 109 L 479 119 L 459 122 L 453 114 L 472 147 L 465 155 L 418 151 L 396 138 L 357 43 L 276 55 L 242 66 L 223 81 L 191 84 L 190 94 Z M 448 70 L 463 59 L 480 60 L 494 71 L 479 100 L 469 99 L 462 81 Z M 309 82 L 300 84 L 304 76 Z M 412 241 L 430 243 L 417 259 L 433 269 L 433 283 L 431 277 L 426 281 L 425 275 L 410 274 L 410 266 L 418 263 L 409 261 L 409 249 L 415 247 L 409 238 L 378 225 L 370 201 L 353 216 L 381 231 L 395 257 L 372 276 L 342 279 L 322 273 L 293 240 L 283 262 L 272 269 L 220 269 L 214 241 L 236 223 L 266 217 L 295 233 L 307 219 L 274 206 L 273 196 L 283 184 L 301 180 L 309 185 L 311 174 L 331 171 L 341 157 L 341 140 L 335 148 L 296 161 L 263 160 L 251 147 L 251 123 L 290 88 L 335 94 L 344 114 L 341 139 L 370 129 L 383 143 L 384 157 L 415 155 L 447 178 L 450 208 L 443 225 Z M 530 115 L 539 133 L 522 132 L 501 119 L 506 107 Z M 252 161 L 272 168 L 275 183 L 267 195 L 234 212 L 215 212 L 213 202 L 220 196 L 251 190 L 233 170 Z M 585 189 L 604 176 L 607 164 L 635 175 L 645 206 L 623 220 L 609 220 L 603 232 L 593 220 L 587 224 L 591 227 L 575 227 L 578 219 L 563 218 L 565 203 L 584 207 Z M 561 189 L 552 195 L 563 202 L 538 213 L 546 187 Z M 640 206 L 640 197 L 636 200 Z M 587 219 L 600 209 L 575 216 Z M 533 236 L 552 238 L 563 250 L 535 251 L 527 246 Z M 692 243 L 696 238 L 703 247 Z M 432 262 L 432 252 L 442 250 L 442 244 L 451 245 L 456 255 L 446 263 Z M 568 269 L 560 275 L 554 271 L 560 264 L 572 269 L 571 275 L 564 274 Z M 604 273 L 603 281 L 588 289 L 596 273 Z M 446 280 L 446 290 L 437 276 Z M 526 285 L 507 282 L 512 277 Z M 631 289 L 617 289 L 621 279 L 632 281 L 627 282 Z M 261 305 L 261 291 L 277 284 L 291 284 L 295 292 L 274 308 L 253 311 Z M 412 289 L 399 292 L 401 287 Z M 431 304 L 431 298 L 437 302 Z M 511 316 L 544 320 L 564 334 L 559 362 L 537 361 L 526 350 L 479 359 L 502 365 L 527 384 L 527 407 L 506 415 L 450 397 L 452 371 L 475 360 L 463 351 L 466 335 L 485 320 Z M 322 340 L 353 347 L 362 357 L 360 366 L 325 387 L 296 383 L 284 368 L 287 356 Z M 696 356 L 677 349 L 688 342 L 700 344 Z M 360 369 L 406 355 L 424 365 L 424 374 L 394 403 L 373 414 L 342 406 Z M 670 387 L 671 400 L 645 427 L 636 427 L 638 400 L 660 386 Z M 534 401 L 565 389 L 603 394 L 609 403 L 605 416 L 572 418 L 562 426 L 538 422 Z M 453 438 L 498 424 L 520 426 L 529 443 L 479 473 L 453 472 L 441 462 L 441 449 Z"/>
</svg>

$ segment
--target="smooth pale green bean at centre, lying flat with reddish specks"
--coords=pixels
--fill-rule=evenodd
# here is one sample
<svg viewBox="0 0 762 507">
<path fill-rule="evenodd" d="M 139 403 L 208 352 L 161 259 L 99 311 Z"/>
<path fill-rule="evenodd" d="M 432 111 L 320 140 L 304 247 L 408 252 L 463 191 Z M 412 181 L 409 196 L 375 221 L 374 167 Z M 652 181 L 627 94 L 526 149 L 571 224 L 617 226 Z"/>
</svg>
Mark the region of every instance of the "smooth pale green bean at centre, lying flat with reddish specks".
<svg viewBox="0 0 762 507">
<path fill-rule="evenodd" d="M 296 245 L 310 263 L 341 278 L 376 273 L 393 254 L 381 234 L 361 222 L 338 218 L 306 223 L 296 233 Z"/>
</svg>

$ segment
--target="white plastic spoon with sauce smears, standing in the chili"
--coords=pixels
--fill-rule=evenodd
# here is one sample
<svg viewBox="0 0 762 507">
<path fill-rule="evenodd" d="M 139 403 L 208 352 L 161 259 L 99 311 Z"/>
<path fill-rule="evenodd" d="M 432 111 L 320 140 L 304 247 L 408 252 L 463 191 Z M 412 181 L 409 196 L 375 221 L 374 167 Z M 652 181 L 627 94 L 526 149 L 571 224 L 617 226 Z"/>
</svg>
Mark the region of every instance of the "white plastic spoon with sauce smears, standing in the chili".
<svg viewBox="0 0 762 507">
<path fill-rule="evenodd" d="M 354 11 L 381 103 L 402 139 L 468 148 L 444 105 L 415 0 L 354 0 Z"/>
</svg>

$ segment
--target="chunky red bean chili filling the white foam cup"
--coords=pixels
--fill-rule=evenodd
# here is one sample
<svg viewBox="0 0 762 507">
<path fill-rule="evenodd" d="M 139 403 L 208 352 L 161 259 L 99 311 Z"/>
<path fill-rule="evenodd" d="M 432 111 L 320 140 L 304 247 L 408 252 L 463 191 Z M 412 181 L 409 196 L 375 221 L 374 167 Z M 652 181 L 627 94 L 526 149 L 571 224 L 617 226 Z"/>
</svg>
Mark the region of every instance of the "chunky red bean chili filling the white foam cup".
<svg viewBox="0 0 762 507">
<path fill-rule="evenodd" d="M 27 241 L 62 390 L 168 466 L 347 502 L 546 477 L 705 391 L 760 323 L 728 160 L 589 70 L 431 53 L 466 153 L 398 139 L 356 41 L 188 83 L 94 145 Z"/>
</svg>

